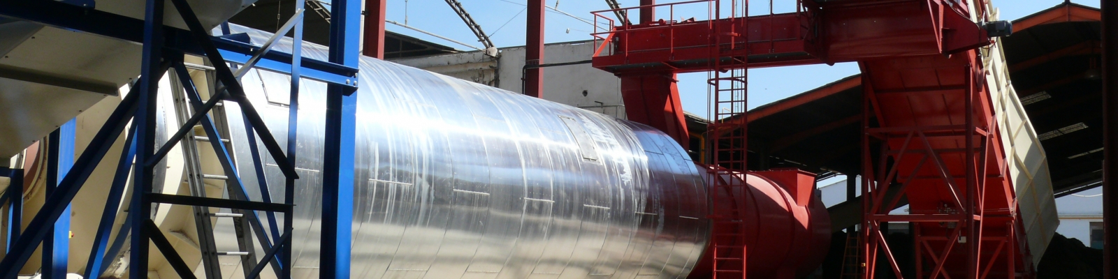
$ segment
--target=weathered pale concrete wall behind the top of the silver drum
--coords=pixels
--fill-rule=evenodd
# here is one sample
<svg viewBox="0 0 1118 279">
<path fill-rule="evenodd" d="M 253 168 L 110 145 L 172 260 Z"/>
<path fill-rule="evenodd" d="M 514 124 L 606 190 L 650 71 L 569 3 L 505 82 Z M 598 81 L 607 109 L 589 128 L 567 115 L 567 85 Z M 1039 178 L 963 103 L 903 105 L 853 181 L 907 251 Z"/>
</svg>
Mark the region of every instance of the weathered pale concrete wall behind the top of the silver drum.
<svg viewBox="0 0 1118 279">
<path fill-rule="evenodd" d="M 543 60 L 544 64 L 589 60 L 594 50 L 593 41 L 550 44 L 543 48 Z M 471 51 L 391 61 L 522 93 L 524 47 L 501 48 L 499 56 Z M 590 64 L 543 68 L 543 99 L 625 118 L 620 79 Z"/>
</svg>

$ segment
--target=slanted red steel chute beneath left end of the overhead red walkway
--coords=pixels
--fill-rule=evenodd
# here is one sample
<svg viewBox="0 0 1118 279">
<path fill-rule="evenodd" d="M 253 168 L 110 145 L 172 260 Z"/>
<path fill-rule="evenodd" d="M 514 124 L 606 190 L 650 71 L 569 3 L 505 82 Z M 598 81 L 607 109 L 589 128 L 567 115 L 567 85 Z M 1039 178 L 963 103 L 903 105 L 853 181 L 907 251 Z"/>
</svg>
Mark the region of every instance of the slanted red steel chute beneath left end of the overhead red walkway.
<svg viewBox="0 0 1118 279">
<path fill-rule="evenodd" d="M 619 78 L 628 121 L 663 131 L 684 148 L 690 145 L 675 74 L 638 74 Z"/>
</svg>

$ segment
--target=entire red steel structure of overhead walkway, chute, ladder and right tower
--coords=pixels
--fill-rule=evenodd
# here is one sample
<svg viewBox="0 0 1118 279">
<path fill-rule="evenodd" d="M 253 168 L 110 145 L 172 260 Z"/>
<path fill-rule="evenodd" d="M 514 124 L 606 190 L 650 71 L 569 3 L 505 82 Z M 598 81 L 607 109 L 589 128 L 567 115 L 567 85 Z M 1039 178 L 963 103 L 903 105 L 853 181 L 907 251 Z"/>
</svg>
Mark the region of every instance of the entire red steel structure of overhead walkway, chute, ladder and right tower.
<svg viewBox="0 0 1118 279">
<path fill-rule="evenodd" d="M 675 6 L 708 6 L 704 20 L 674 20 Z M 1031 258 L 1015 213 L 1015 196 L 1002 154 L 999 131 L 985 84 L 979 47 L 991 44 L 975 18 L 982 0 L 797 0 L 790 13 L 742 16 L 748 1 L 691 1 L 595 12 L 613 28 L 594 36 L 594 66 L 622 78 L 629 119 L 686 141 L 679 73 L 713 71 L 713 123 L 708 128 L 710 177 L 746 172 L 746 68 L 858 61 L 862 69 L 863 204 L 861 278 L 879 270 L 903 278 L 881 233 L 883 222 L 913 224 L 916 278 L 1017 278 L 1032 276 Z M 770 0 L 767 7 L 773 7 Z M 666 20 L 614 21 L 614 11 L 669 10 Z M 730 17 L 722 18 L 729 13 Z M 642 18 L 645 17 L 642 15 Z M 620 26 L 615 26 L 623 22 Z M 639 81 L 636 81 L 639 80 Z M 655 80 L 655 81 L 648 81 Z M 727 86 L 727 83 L 730 86 Z M 635 105 L 634 105 L 635 104 Z M 738 106 L 740 105 L 740 109 Z M 718 184 L 718 183 L 716 183 Z M 733 183 L 711 191 L 714 222 L 711 267 L 716 278 L 743 278 L 741 220 L 748 201 Z M 900 187 L 910 212 L 891 214 Z M 733 248 L 737 246 L 738 248 Z M 796 257 L 796 256 L 787 256 Z M 740 262 L 730 263 L 730 262 Z"/>
</svg>

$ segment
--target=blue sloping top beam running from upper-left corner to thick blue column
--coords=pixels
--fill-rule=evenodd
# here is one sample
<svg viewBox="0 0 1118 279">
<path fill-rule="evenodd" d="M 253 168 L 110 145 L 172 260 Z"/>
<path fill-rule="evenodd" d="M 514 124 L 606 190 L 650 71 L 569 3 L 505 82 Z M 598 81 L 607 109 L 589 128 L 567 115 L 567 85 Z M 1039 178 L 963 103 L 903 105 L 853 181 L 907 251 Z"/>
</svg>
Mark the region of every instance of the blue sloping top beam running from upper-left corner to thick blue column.
<svg viewBox="0 0 1118 279">
<path fill-rule="evenodd" d="M 50 0 L 0 1 L 0 16 L 32 21 L 65 30 L 87 32 L 97 36 L 115 38 L 138 44 L 144 42 L 144 21 L 116 13 L 85 9 L 73 4 Z M 203 45 L 209 44 L 221 50 L 224 60 L 235 64 L 248 61 L 259 46 L 236 41 L 227 38 L 208 36 L 206 41 L 196 40 L 191 32 L 173 27 L 160 26 L 165 36 L 161 44 L 170 49 L 190 55 L 207 56 Z M 360 30 L 360 29 L 350 29 Z M 357 51 L 354 49 L 354 51 Z M 210 58 L 214 58 L 212 56 Z M 281 51 L 268 51 L 257 64 L 258 68 L 291 74 L 293 55 Z M 356 88 L 357 84 L 347 84 L 357 75 L 356 66 L 328 62 L 300 57 L 302 77 L 337 84 L 342 87 Z"/>
</svg>

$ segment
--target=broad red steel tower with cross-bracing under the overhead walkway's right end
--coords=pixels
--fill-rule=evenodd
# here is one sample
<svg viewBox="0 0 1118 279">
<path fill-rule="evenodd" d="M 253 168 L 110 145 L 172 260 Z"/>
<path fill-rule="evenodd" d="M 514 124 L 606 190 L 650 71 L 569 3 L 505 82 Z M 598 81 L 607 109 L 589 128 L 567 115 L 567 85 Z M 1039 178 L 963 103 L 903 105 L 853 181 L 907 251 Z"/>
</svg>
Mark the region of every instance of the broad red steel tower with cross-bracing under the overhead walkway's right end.
<svg viewBox="0 0 1118 279">
<path fill-rule="evenodd" d="M 919 65 L 919 67 L 915 67 Z M 862 228 L 866 263 L 863 278 L 875 271 L 900 273 L 881 234 L 881 222 L 911 222 L 917 272 L 927 278 L 1014 278 L 1010 270 L 1032 270 L 1016 232 L 1014 192 L 1008 179 L 992 100 L 982 81 L 976 50 L 860 62 L 865 98 Z M 868 121 L 868 119 L 866 119 Z M 869 122 L 868 122 L 869 123 Z M 871 146 L 881 145 L 873 158 Z M 907 214 L 890 214 L 901 187 Z M 875 254 L 884 256 L 879 268 Z"/>
</svg>

